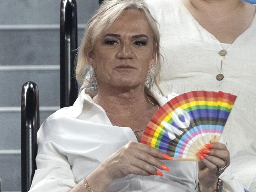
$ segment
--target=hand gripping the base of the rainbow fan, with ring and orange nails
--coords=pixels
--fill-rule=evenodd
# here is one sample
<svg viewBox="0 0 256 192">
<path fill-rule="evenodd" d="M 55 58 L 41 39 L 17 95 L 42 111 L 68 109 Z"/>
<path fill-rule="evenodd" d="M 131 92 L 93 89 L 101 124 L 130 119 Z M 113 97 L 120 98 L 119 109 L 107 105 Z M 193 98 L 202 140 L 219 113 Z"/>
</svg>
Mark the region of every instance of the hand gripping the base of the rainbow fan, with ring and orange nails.
<svg viewBox="0 0 256 192">
<path fill-rule="evenodd" d="M 219 175 L 230 165 L 229 151 L 226 146 L 219 142 L 211 144 L 207 145 L 209 149 L 200 150 L 198 154 L 201 159 L 198 162 L 198 179 L 202 192 L 216 190 Z"/>
</svg>

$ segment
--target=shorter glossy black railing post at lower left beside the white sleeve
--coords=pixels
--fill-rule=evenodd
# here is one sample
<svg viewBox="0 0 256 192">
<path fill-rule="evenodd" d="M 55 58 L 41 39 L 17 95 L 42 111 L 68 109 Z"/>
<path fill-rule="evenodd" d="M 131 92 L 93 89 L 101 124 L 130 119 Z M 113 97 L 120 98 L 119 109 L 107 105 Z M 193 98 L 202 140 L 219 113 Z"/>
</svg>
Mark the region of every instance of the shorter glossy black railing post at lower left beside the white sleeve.
<svg viewBox="0 0 256 192">
<path fill-rule="evenodd" d="M 37 130 L 39 129 L 38 87 L 33 82 L 24 83 L 21 90 L 21 191 L 30 189 L 35 174 L 37 155 Z"/>
</svg>

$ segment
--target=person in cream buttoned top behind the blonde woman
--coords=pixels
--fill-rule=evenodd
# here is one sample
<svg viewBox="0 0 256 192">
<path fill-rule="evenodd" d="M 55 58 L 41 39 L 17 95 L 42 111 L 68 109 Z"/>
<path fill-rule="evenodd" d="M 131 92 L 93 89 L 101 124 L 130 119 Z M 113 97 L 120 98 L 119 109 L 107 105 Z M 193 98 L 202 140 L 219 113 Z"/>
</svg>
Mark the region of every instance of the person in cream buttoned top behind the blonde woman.
<svg viewBox="0 0 256 192">
<path fill-rule="evenodd" d="M 256 6 L 239 0 L 146 2 L 160 25 L 163 92 L 238 95 L 223 134 L 233 174 L 255 192 Z"/>
</svg>

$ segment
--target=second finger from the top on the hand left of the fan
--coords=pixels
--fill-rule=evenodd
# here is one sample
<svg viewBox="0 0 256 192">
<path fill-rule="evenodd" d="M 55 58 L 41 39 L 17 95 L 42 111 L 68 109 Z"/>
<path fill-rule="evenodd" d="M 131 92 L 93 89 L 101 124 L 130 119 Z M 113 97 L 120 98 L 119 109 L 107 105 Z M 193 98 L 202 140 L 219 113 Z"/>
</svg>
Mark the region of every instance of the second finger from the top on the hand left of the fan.
<svg viewBox="0 0 256 192">
<path fill-rule="evenodd" d="M 170 171 L 170 169 L 167 166 L 165 166 L 163 164 L 163 162 L 161 162 L 158 158 L 156 158 L 148 153 L 139 151 L 138 153 L 135 153 L 134 155 L 136 158 L 138 158 L 144 162 L 147 162 L 147 163 L 151 164 L 152 166 L 155 166 L 155 167 L 160 168 L 161 170 L 165 170 L 167 172 Z"/>
</svg>

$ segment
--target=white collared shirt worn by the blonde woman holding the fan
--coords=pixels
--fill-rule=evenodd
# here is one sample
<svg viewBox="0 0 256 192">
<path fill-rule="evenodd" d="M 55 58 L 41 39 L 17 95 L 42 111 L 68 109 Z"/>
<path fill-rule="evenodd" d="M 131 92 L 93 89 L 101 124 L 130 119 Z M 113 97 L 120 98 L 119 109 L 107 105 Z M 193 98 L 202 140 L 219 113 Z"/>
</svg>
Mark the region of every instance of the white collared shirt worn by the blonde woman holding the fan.
<svg viewBox="0 0 256 192">
<path fill-rule="evenodd" d="M 152 96 L 160 105 L 167 102 L 167 98 L 156 93 Z M 175 94 L 169 95 L 169 99 L 173 96 Z M 68 192 L 119 148 L 129 141 L 137 142 L 130 127 L 112 126 L 104 109 L 93 102 L 85 90 L 72 107 L 59 109 L 49 116 L 37 135 L 37 170 L 30 192 Z M 196 191 L 196 162 L 163 163 L 171 169 L 163 172 L 163 177 L 130 174 L 114 181 L 107 191 Z M 232 183 L 232 179 L 228 182 Z M 240 192 L 235 187 L 234 191 Z"/>
</svg>

